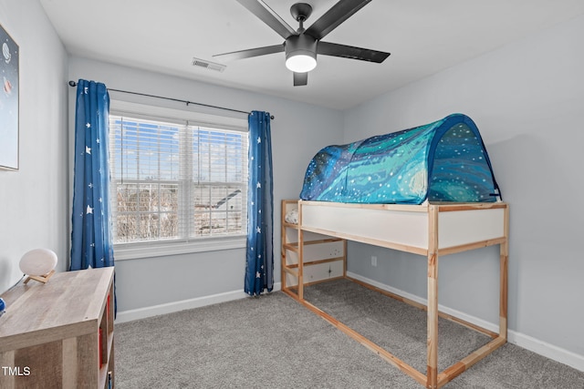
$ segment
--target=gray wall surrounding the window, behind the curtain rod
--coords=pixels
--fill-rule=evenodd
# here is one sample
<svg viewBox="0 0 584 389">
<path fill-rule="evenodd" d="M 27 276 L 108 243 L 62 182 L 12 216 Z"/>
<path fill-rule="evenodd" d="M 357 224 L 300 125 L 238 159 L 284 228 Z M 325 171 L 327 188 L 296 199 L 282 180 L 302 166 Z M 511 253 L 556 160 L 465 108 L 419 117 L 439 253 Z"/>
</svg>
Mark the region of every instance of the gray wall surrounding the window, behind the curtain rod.
<svg viewBox="0 0 584 389">
<path fill-rule="evenodd" d="M 275 279 L 279 282 L 279 202 L 282 199 L 297 199 L 308 161 L 319 148 L 342 140 L 342 113 L 282 98 L 248 93 L 229 87 L 214 87 L 179 77 L 163 76 L 79 57 L 70 58 L 69 70 L 69 76 L 74 80 L 93 79 L 115 89 L 180 98 L 245 111 L 265 110 L 276 117 L 272 121 L 276 201 L 274 261 Z M 75 88 L 70 88 L 71 130 L 74 95 Z M 142 103 L 148 100 L 115 92 L 110 93 L 110 97 Z M 163 100 L 151 100 L 151 102 L 177 107 L 177 103 L 165 103 Z M 204 111 L 209 112 L 209 110 Z M 214 111 L 214 113 L 229 115 L 223 111 Z M 116 261 L 119 311 L 180 302 L 223 292 L 243 292 L 244 271 L 244 249 Z"/>
</svg>

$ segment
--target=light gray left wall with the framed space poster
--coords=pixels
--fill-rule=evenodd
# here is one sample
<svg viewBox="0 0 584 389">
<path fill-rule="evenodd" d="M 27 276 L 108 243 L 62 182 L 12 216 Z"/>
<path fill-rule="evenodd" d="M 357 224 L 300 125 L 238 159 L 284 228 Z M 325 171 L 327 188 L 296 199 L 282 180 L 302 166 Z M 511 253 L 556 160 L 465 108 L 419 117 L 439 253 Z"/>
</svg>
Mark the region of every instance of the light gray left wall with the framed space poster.
<svg viewBox="0 0 584 389">
<path fill-rule="evenodd" d="M 0 292 L 26 251 L 68 258 L 68 56 L 36 0 L 0 0 L 0 25 L 20 51 L 20 169 L 0 170 Z"/>
</svg>

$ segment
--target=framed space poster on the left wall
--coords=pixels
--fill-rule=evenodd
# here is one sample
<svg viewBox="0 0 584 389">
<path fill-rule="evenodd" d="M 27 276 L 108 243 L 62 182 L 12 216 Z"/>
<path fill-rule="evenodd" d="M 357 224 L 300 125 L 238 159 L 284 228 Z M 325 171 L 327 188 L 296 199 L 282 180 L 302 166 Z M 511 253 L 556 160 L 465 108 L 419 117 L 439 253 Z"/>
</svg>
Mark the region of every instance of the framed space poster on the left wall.
<svg viewBox="0 0 584 389">
<path fill-rule="evenodd" d="M 0 169 L 18 169 L 18 45 L 0 26 Z"/>
</svg>

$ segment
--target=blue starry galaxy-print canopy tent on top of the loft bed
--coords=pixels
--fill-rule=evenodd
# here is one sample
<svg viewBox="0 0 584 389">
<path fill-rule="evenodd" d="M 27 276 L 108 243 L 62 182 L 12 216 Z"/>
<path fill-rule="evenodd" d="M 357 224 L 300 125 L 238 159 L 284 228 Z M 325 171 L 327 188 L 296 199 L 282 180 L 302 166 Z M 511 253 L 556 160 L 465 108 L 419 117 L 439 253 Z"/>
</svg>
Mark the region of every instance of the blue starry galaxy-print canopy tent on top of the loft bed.
<svg viewBox="0 0 584 389">
<path fill-rule="evenodd" d="M 308 164 L 300 199 L 370 204 L 501 200 L 483 139 L 463 114 L 322 148 Z"/>
</svg>

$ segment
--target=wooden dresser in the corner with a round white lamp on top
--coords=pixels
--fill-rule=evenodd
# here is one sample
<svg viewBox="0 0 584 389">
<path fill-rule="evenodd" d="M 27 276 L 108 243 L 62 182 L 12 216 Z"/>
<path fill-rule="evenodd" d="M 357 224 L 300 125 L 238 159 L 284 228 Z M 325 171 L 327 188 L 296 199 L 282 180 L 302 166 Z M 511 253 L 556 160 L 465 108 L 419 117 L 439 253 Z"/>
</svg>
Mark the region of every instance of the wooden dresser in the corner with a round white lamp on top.
<svg viewBox="0 0 584 389">
<path fill-rule="evenodd" d="M 20 282 L 1 297 L 0 388 L 114 386 L 113 268 Z"/>
</svg>

